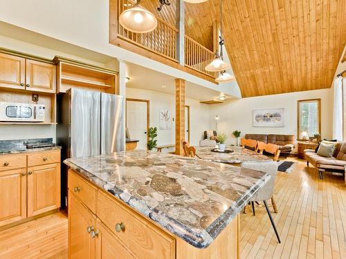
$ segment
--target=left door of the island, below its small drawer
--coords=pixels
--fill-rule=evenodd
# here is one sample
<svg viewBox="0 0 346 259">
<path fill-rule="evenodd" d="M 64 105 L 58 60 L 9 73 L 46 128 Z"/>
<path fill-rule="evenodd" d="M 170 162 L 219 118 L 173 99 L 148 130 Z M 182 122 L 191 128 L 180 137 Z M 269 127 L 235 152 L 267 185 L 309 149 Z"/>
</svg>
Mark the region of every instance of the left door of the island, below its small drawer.
<svg viewBox="0 0 346 259">
<path fill-rule="evenodd" d="M 95 240 L 88 227 L 95 229 L 95 215 L 69 191 L 69 258 L 95 258 Z"/>
</svg>

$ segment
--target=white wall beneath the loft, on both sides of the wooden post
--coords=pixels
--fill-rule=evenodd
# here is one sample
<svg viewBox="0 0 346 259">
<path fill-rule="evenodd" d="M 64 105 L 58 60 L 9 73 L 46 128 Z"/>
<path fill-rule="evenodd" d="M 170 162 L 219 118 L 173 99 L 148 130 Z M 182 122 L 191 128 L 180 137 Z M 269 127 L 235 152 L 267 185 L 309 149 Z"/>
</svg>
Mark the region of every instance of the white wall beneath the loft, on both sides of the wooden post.
<svg viewBox="0 0 346 259">
<path fill-rule="evenodd" d="M 149 100 L 149 126 L 158 128 L 158 145 L 175 143 L 175 121 L 172 121 L 172 128 L 170 130 L 159 129 L 160 110 L 170 110 L 172 117 L 175 119 L 174 95 L 153 90 L 126 88 L 126 97 Z M 209 128 L 209 106 L 208 104 L 200 104 L 196 99 L 185 99 L 185 104 L 190 106 L 190 143 L 198 146 L 203 131 Z M 172 151 L 172 149 L 166 151 Z"/>
</svg>

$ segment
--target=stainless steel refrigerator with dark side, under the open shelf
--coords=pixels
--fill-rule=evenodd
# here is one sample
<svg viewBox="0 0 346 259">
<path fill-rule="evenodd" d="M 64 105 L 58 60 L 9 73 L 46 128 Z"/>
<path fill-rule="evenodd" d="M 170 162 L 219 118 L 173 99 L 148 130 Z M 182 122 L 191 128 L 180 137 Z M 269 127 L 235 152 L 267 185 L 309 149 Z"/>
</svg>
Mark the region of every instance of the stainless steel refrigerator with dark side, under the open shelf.
<svg viewBox="0 0 346 259">
<path fill-rule="evenodd" d="M 125 150 L 125 100 L 82 89 L 57 96 L 57 144 L 62 161 Z M 66 199 L 67 168 L 62 164 L 62 204 Z"/>
</svg>

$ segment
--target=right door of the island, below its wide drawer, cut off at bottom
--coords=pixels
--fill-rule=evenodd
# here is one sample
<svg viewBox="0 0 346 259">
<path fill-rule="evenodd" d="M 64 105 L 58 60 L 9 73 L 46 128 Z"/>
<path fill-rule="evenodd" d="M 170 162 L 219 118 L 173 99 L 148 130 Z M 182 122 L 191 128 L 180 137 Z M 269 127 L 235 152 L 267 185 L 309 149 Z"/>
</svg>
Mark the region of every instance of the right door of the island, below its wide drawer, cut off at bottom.
<svg viewBox="0 0 346 259">
<path fill-rule="evenodd" d="M 116 236 L 104 227 L 99 220 L 96 222 L 96 259 L 132 259 L 135 258 L 116 238 Z"/>
</svg>

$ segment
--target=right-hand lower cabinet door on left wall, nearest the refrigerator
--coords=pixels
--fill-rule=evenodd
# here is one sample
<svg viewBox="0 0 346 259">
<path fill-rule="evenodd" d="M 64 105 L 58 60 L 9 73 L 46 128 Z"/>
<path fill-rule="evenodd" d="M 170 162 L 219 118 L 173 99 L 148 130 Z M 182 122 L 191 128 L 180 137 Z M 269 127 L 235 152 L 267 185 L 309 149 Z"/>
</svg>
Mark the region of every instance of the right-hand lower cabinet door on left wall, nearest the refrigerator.
<svg viewBox="0 0 346 259">
<path fill-rule="evenodd" d="M 28 167 L 28 217 L 60 208 L 60 163 Z"/>
</svg>

